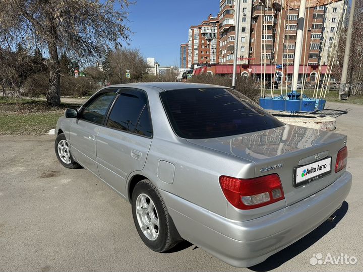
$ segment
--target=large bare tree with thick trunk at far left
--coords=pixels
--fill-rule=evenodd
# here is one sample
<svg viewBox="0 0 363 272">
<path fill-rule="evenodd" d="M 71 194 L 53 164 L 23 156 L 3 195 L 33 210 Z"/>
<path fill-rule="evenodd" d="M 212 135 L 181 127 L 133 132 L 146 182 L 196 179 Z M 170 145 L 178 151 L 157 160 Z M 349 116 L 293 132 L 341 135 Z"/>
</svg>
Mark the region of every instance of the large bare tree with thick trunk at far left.
<svg viewBox="0 0 363 272">
<path fill-rule="evenodd" d="M 18 42 L 43 48 L 49 58 L 47 102 L 59 105 L 59 52 L 89 59 L 106 44 L 128 40 L 129 0 L 0 0 L 0 48 Z"/>
</svg>

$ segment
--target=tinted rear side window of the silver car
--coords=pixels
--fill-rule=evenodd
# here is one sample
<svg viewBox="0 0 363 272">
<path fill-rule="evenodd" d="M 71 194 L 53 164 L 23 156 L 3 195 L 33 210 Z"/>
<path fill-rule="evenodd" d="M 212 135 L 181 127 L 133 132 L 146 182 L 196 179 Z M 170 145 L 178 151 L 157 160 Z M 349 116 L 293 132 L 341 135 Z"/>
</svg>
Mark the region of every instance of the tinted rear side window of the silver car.
<svg viewBox="0 0 363 272">
<path fill-rule="evenodd" d="M 106 125 L 151 137 L 146 94 L 137 90 L 121 92 L 111 109 Z"/>
</svg>

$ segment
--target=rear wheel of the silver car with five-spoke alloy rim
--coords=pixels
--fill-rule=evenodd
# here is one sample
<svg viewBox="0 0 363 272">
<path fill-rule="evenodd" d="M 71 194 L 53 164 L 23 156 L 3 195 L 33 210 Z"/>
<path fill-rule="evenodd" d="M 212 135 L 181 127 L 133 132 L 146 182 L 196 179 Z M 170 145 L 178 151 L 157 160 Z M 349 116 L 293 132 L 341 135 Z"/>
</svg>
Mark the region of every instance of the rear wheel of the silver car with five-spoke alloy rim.
<svg viewBox="0 0 363 272">
<path fill-rule="evenodd" d="M 135 185 L 131 199 L 135 227 L 146 246 L 153 251 L 164 252 L 183 240 L 160 192 L 149 179 Z"/>
</svg>

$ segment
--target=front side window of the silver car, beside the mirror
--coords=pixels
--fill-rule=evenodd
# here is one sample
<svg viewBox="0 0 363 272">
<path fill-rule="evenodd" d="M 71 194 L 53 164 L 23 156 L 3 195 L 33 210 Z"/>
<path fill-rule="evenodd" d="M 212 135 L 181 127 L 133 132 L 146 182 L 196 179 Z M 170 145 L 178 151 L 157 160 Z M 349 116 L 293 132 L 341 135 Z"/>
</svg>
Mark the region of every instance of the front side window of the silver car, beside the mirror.
<svg viewBox="0 0 363 272">
<path fill-rule="evenodd" d="M 100 94 L 83 109 L 80 118 L 92 123 L 102 124 L 103 117 L 115 95 L 115 92 Z"/>
</svg>

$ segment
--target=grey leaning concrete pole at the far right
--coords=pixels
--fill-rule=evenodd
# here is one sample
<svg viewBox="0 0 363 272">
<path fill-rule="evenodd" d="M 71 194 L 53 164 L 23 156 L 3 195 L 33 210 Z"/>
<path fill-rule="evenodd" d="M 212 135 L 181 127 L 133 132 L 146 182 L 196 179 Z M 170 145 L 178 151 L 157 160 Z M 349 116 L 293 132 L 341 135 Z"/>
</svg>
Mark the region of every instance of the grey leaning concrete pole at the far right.
<svg viewBox="0 0 363 272">
<path fill-rule="evenodd" d="M 342 70 L 342 76 L 340 78 L 339 100 L 348 99 L 349 86 L 347 86 L 347 84 L 346 84 L 346 77 L 347 77 L 347 72 L 348 72 L 351 33 L 353 30 L 354 9 L 355 9 L 355 0 L 351 0 L 349 23 L 348 23 L 348 29 L 347 29 L 347 39 L 345 42 L 343 70 Z"/>
</svg>

